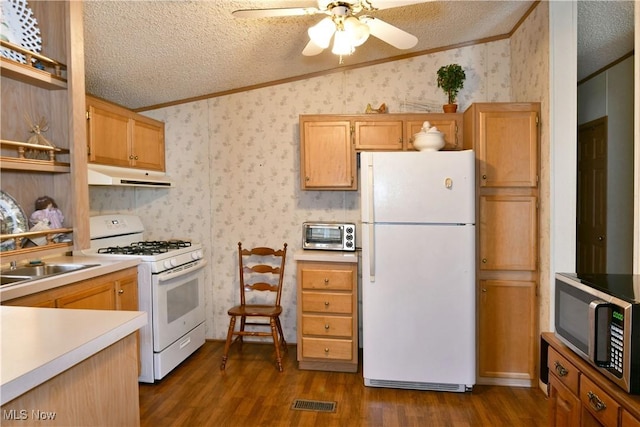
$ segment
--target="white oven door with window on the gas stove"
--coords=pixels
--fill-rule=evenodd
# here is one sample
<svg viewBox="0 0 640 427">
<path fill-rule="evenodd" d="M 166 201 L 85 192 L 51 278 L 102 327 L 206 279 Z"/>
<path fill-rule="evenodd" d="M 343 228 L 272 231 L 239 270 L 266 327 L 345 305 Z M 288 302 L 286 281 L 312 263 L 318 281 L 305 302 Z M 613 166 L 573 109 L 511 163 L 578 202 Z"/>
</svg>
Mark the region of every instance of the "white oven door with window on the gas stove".
<svg viewBox="0 0 640 427">
<path fill-rule="evenodd" d="M 153 275 L 154 352 L 162 351 L 204 322 L 205 265 L 206 261 L 199 260 Z"/>
</svg>

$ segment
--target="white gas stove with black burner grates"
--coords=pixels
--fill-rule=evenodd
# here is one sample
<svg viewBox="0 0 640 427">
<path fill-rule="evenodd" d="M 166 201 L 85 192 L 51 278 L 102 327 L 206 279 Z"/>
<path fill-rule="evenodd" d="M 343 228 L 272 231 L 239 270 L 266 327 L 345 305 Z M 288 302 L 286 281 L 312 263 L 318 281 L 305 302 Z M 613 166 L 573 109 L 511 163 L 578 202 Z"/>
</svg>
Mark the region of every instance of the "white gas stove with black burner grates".
<svg viewBox="0 0 640 427">
<path fill-rule="evenodd" d="M 91 217 L 89 235 L 85 255 L 140 260 L 138 308 L 149 313 L 149 323 L 140 329 L 138 380 L 162 379 L 205 341 L 202 245 L 177 238 L 146 240 L 134 215 Z"/>
</svg>

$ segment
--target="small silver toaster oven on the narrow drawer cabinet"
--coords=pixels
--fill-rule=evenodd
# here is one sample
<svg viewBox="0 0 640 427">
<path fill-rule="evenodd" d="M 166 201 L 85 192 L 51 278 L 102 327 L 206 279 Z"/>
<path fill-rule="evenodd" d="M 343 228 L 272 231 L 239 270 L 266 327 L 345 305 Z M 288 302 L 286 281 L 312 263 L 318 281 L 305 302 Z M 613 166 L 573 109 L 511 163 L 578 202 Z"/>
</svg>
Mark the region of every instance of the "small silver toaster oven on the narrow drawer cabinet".
<svg viewBox="0 0 640 427">
<path fill-rule="evenodd" d="M 338 222 L 302 224 L 302 249 L 355 251 L 356 225 Z"/>
</svg>

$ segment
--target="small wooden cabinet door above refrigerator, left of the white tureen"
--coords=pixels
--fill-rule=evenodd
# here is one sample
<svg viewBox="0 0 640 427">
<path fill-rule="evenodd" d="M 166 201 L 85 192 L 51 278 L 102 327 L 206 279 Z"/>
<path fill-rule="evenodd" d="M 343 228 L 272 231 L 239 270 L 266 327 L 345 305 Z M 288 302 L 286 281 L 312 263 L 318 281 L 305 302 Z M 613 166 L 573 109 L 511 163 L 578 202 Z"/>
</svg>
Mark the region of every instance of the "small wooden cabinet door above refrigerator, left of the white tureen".
<svg viewBox="0 0 640 427">
<path fill-rule="evenodd" d="M 354 129 L 356 150 L 402 150 L 402 120 L 356 120 Z"/>
</svg>

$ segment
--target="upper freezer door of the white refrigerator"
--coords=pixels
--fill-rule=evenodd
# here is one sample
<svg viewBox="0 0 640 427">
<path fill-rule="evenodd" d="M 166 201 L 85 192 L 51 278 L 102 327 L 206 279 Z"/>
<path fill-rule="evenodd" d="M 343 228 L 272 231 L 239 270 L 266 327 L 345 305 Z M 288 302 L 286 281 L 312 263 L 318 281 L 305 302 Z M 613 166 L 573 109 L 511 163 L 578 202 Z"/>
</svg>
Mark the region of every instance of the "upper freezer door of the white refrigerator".
<svg viewBox="0 0 640 427">
<path fill-rule="evenodd" d="M 475 155 L 360 154 L 362 222 L 475 223 Z"/>
</svg>

